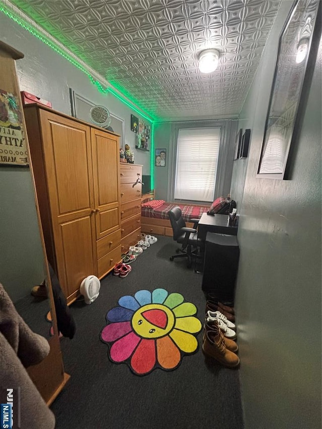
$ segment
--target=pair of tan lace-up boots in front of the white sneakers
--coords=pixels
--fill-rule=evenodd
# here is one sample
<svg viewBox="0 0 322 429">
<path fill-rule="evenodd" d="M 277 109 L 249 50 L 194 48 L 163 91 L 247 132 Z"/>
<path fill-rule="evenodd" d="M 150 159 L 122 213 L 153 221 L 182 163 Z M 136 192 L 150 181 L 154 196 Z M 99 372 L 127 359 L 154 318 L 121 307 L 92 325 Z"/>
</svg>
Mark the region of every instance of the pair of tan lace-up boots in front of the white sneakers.
<svg viewBox="0 0 322 429">
<path fill-rule="evenodd" d="M 202 351 L 225 367 L 236 368 L 239 365 L 238 346 L 223 335 L 216 321 L 205 324 Z"/>
</svg>

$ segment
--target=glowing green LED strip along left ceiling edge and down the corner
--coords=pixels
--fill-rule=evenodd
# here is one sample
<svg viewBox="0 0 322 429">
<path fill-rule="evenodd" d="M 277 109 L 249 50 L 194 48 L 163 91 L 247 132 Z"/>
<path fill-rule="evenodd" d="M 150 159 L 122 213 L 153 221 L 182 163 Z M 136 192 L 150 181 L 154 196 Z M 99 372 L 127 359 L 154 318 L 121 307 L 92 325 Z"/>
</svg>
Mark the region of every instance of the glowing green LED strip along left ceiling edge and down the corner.
<svg viewBox="0 0 322 429">
<path fill-rule="evenodd" d="M 151 168 L 151 188 L 154 189 L 154 158 L 153 158 L 153 152 L 154 152 L 154 121 L 155 119 L 153 117 L 149 118 L 145 114 L 143 114 L 141 111 L 137 110 L 131 103 L 124 100 L 122 95 L 118 94 L 113 88 L 103 88 L 103 85 L 96 80 L 81 64 L 79 64 L 75 59 L 67 55 L 64 51 L 62 51 L 60 48 L 58 48 L 53 42 L 48 40 L 46 37 L 44 37 L 39 31 L 37 31 L 35 28 L 33 28 L 31 25 L 24 22 L 22 19 L 17 18 L 13 13 L 11 13 L 8 9 L 6 9 L 2 4 L 0 4 L 0 12 L 3 12 L 7 17 L 15 21 L 18 25 L 20 25 L 23 29 L 27 30 L 30 34 L 37 37 L 37 39 L 41 40 L 43 43 L 45 43 L 47 46 L 49 46 L 52 50 L 54 50 L 56 53 L 61 55 L 64 59 L 69 61 L 72 65 L 77 67 L 79 70 L 83 71 L 92 83 L 96 86 L 97 90 L 102 94 L 112 94 L 114 97 L 116 97 L 118 100 L 120 100 L 123 104 L 125 104 L 127 107 L 129 107 L 131 110 L 134 110 L 135 113 L 138 114 L 138 116 L 143 117 L 147 121 L 151 122 L 151 152 L 150 152 L 150 168 Z"/>
</svg>

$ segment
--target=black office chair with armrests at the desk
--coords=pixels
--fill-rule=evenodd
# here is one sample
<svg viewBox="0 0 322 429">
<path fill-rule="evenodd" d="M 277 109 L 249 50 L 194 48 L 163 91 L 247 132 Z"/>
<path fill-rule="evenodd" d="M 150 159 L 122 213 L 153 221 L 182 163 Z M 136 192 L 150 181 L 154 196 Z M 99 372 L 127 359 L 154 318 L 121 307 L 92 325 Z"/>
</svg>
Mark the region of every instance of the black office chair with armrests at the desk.
<svg viewBox="0 0 322 429">
<path fill-rule="evenodd" d="M 169 210 L 169 219 L 173 230 L 173 239 L 177 243 L 181 244 L 181 248 L 178 248 L 177 254 L 170 256 L 170 261 L 175 258 L 188 258 L 188 268 L 191 267 L 191 258 L 196 256 L 198 252 L 198 246 L 200 247 L 202 241 L 198 239 L 197 226 L 199 219 L 190 219 L 193 222 L 193 228 L 187 228 L 186 222 L 182 217 L 180 207 L 174 207 Z"/>
</svg>

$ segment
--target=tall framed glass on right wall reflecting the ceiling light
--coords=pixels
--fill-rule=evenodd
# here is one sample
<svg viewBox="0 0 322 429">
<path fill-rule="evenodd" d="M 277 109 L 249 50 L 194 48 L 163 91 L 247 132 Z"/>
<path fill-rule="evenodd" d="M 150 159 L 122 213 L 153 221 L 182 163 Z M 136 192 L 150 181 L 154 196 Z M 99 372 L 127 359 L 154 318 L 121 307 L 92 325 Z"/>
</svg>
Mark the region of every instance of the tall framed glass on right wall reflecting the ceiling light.
<svg viewBox="0 0 322 429">
<path fill-rule="evenodd" d="M 289 152 L 300 128 L 306 104 L 305 93 L 317 54 L 320 15 L 321 2 L 318 0 L 297 0 L 284 24 L 279 39 L 258 178 L 285 179 Z"/>
</svg>

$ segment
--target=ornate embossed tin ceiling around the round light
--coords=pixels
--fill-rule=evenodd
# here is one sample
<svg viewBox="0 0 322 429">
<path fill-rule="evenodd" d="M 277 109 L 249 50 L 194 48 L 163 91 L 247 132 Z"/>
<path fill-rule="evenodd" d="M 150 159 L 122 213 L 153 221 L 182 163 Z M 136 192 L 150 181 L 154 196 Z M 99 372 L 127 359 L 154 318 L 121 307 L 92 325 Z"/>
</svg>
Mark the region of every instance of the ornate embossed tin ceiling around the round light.
<svg viewBox="0 0 322 429">
<path fill-rule="evenodd" d="M 141 109 L 163 120 L 236 117 L 280 0 L 12 0 Z M 202 74 L 198 53 L 220 52 Z"/>
</svg>

